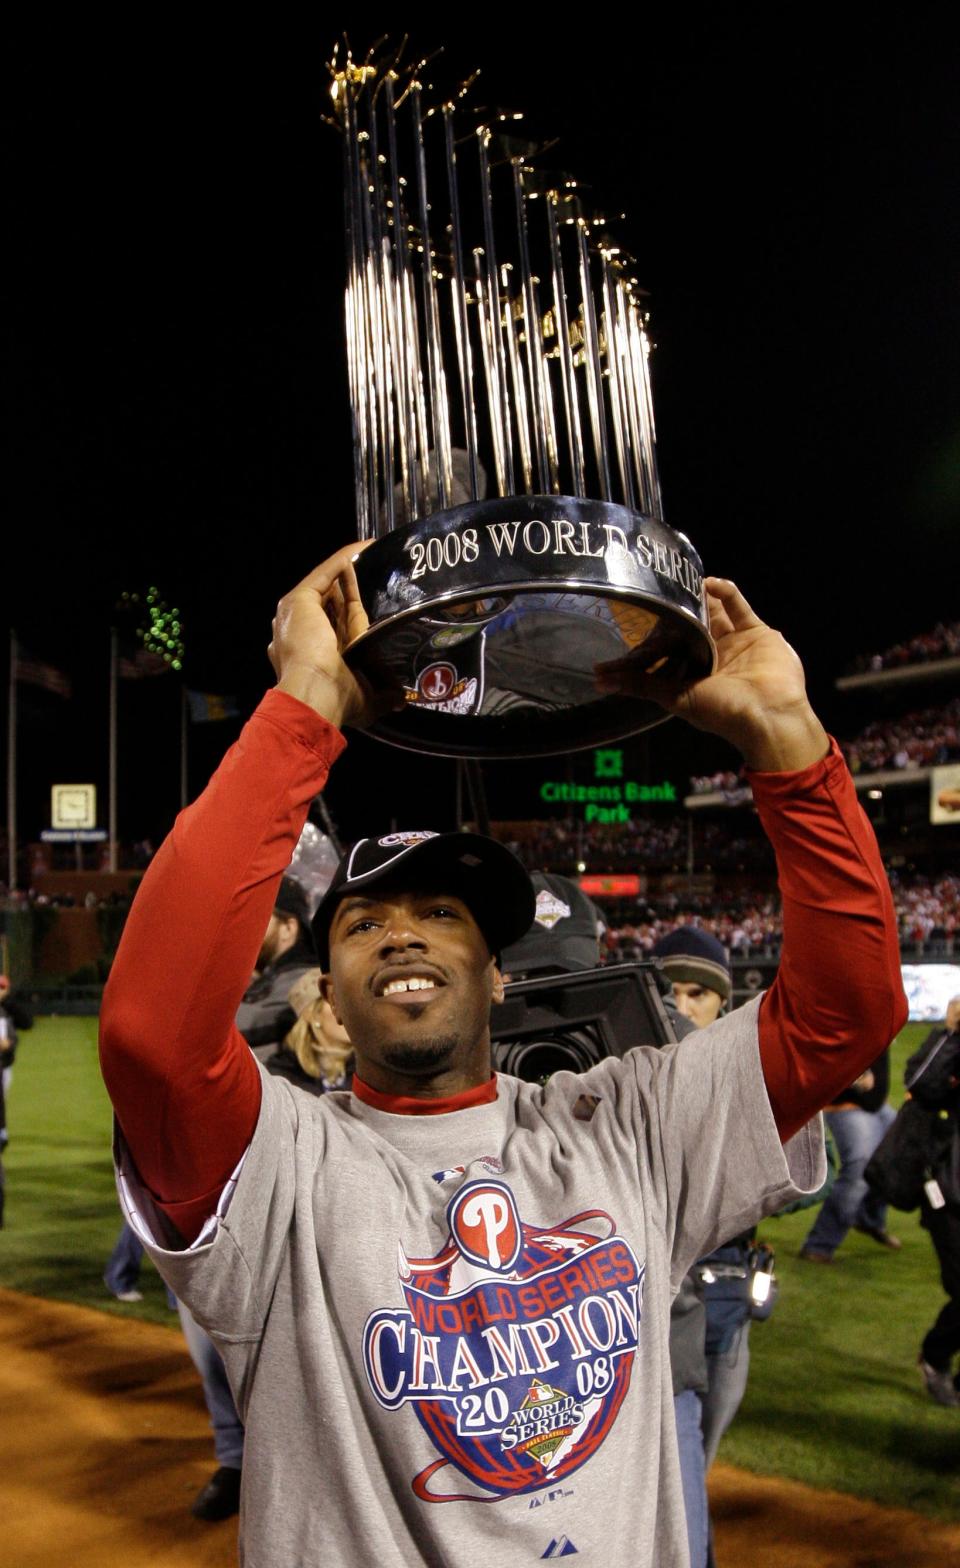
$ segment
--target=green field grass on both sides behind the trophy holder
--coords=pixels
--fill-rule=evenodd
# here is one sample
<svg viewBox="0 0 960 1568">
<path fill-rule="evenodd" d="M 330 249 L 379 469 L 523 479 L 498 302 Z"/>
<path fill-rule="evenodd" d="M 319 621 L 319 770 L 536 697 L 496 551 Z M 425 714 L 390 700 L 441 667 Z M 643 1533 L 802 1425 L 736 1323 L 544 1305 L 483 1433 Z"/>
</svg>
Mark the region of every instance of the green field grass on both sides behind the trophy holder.
<svg viewBox="0 0 960 1568">
<path fill-rule="evenodd" d="M 894 1044 L 894 1102 L 924 1033 L 925 1025 L 907 1025 Z M 143 1301 L 124 1306 L 104 1287 L 119 1210 L 96 1019 L 41 1018 L 20 1036 L 8 1121 L 0 1286 L 176 1323 L 149 1262 Z M 891 1210 L 899 1253 L 850 1234 L 836 1264 L 817 1267 L 797 1258 L 813 1212 L 761 1226 L 776 1251 L 780 1300 L 769 1322 L 751 1327 L 747 1399 L 720 1457 L 957 1519 L 960 1411 L 933 1405 L 916 1367 L 919 1339 L 944 1300 L 927 1236 L 916 1215 Z"/>
</svg>

